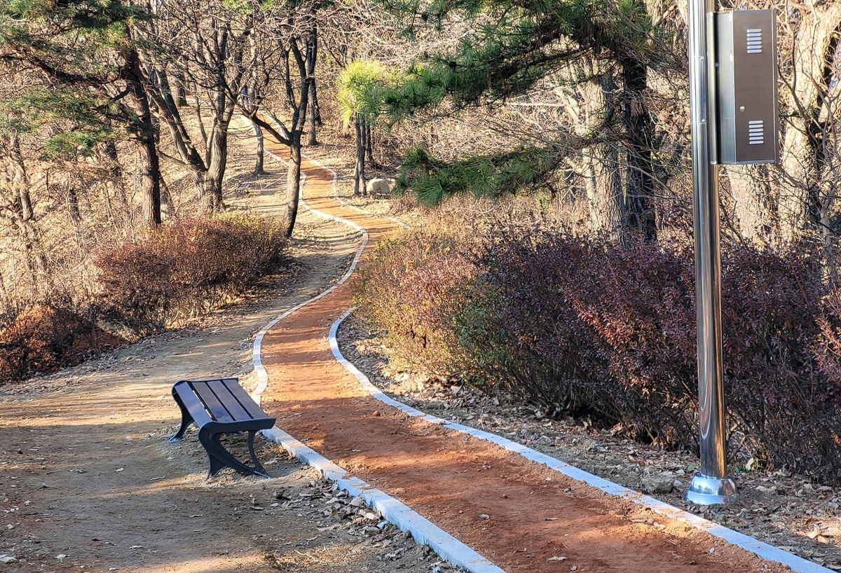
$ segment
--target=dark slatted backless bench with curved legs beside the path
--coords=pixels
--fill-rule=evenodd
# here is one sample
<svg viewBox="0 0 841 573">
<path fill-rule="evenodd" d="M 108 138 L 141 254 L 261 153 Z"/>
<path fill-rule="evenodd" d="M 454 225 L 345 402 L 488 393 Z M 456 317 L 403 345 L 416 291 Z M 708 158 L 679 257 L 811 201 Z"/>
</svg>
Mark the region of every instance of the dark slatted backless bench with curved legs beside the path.
<svg viewBox="0 0 841 573">
<path fill-rule="evenodd" d="M 198 441 L 210 458 L 208 477 L 226 467 L 241 474 L 270 477 L 254 454 L 254 434 L 272 428 L 269 418 L 240 386 L 236 378 L 179 380 L 172 386 L 172 397 L 181 408 L 181 428 L 169 439 L 177 442 L 191 423 L 198 428 Z M 254 465 L 237 460 L 220 442 L 222 434 L 248 432 L 248 453 Z"/>
</svg>

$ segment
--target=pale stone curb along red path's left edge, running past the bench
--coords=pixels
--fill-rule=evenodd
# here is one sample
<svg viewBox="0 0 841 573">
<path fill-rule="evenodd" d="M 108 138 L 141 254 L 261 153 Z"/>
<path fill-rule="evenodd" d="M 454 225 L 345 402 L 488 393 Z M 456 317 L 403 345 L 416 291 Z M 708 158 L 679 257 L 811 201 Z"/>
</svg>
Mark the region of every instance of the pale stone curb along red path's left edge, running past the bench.
<svg viewBox="0 0 841 573">
<path fill-rule="evenodd" d="M 271 151 L 266 151 L 266 153 L 267 155 L 271 155 L 274 159 L 281 161 L 282 163 L 286 163 L 286 161 L 279 158 L 278 155 L 274 155 Z M 336 195 L 336 171 L 332 171 L 316 161 L 313 161 L 313 163 L 332 173 L 333 194 L 336 199 L 338 199 L 338 196 Z M 301 175 L 304 176 L 305 180 L 305 174 L 302 173 Z M 341 202 L 341 200 L 339 201 Z M 336 282 L 336 284 L 324 292 L 321 292 L 319 295 L 310 298 L 308 301 L 302 302 L 298 306 L 290 308 L 285 313 L 280 314 L 277 318 L 274 318 L 272 322 L 263 327 L 259 333 L 257 333 L 257 338 L 254 340 L 254 350 L 251 352 L 251 360 L 254 362 L 254 371 L 257 372 L 257 387 L 254 389 L 254 392 L 251 392 L 251 396 L 257 404 L 260 403 L 262 393 L 266 391 L 268 386 L 268 374 L 265 366 L 262 365 L 261 360 L 262 340 L 267 332 L 272 329 L 275 324 L 283 320 L 283 318 L 288 317 L 299 308 L 305 307 L 310 302 L 315 302 L 321 297 L 325 297 L 327 294 L 335 291 L 338 286 L 345 283 L 351 277 L 353 271 L 356 270 L 359 258 L 362 256 L 362 251 L 365 249 L 365 245 L 368 244 L 368 232 L 356 223 L 352 223 L 343 218 L 328 215 L 327 213 L 321 213 L 320 211 L 310 208 L 303 199 L 300 204 L 311 213 L 315 213 L 323 218 L 338 221 L 339 223 L 345 223 L 353 229 L 356 229 L 360 234 L 362 234 L 362 244 L 359 246 L 356 255 L 353 257 L 353 262 L 351 263 L 350 268 L 347 270 L 345 275 Z M 348 205 L 348 207 L 353 208 L 350 205 Z M 396 221 L 396 219 L 394 220 Z M 397 223 L 400 222 L 397 221 Z M 405 226 L 405 223 L 400 224 Z M 347 313 L 345 313 L 342 318 L 346 316 Z M 333 334 L 333 330 L 331 329 L 331 348 L 333 344 L 332 341 L 335 338 L 333 337 Z M 467 545 L 454 538 L 451 534 L 448 534 L 442 528 L 438 528 L 426 518 L 421 517 L 420 514 L 412 511 L 410 507 L 407 507 L 404 503 L 399 502 L 394 499 L 394 497 L 390 497 L 378 489 L 372 488 L 359 478 L 350 476 L 345 470 L 342 470 L 341 467 L 332 463 L 330 460 L 325 459 L 325 457 L 318 454 L 314 449 L 308 448 L 297 439 L 294 439 L 286 432 L 283 432 L 283 430 L 277 426 L 270 430 L 263 431 L 262 434 L 276 444 L 280 444 L 283 449 L 286 449 L 291 455 L 294 455 L 302 462 L 312 465 L 320 470 L 321 473 L 328 479 L 336 481 L 341 489 L 346 490 L 352 496 L 361 495 L 362 500 L 368 503 L 368 506 L 377 509 L 380 515 L 387 519 L 389 523 L 394 523 L 394 525 L 401 531 L 408 531 L 412 535 L 412 539 L 415 539 L 417 543 L 429 545 L 429 547 L 435 551 L 437 555 L 440 555 L 452 565 L 463 567 L 464 569 L 470 571 L 470 573 L 505 573 L 504 570 L 485 559 L 482 555 L 479 555 L 473 549 L 470 549 Z"/>
</svg>

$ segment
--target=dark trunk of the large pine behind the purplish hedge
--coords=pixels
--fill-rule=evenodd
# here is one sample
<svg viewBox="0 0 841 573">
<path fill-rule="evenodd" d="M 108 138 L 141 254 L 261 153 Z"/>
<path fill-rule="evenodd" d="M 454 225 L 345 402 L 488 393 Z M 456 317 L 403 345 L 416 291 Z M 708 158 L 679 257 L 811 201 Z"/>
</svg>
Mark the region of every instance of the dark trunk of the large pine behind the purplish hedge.
<svg viewBox="0 0 841 573">
<path fill-rule="evenodd" d="M 657 224 L 651 206 L 653 165 L 651 160 L 653 121 L 648 113 L 648 68 L 635 57 L 620 58 L 625 89 L 624 121 L 627 129 L 627 228 L 646 239 L 657 239 Z"/>
</svg>

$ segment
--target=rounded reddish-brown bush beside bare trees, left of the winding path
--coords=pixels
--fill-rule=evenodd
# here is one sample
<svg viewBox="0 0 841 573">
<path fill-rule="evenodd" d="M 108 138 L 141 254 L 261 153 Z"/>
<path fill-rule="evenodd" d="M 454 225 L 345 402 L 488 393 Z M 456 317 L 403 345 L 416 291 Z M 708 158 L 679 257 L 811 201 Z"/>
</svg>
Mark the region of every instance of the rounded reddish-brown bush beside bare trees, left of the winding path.
<svg viewBox="0 0 841 573">
<path fill-rule="evenodd" d="M 101 305 L 138 334 L 182 323 L 240 296 L 286 262 L 273 218 L 186 219 L 101 250 Z"/>
</svg>

